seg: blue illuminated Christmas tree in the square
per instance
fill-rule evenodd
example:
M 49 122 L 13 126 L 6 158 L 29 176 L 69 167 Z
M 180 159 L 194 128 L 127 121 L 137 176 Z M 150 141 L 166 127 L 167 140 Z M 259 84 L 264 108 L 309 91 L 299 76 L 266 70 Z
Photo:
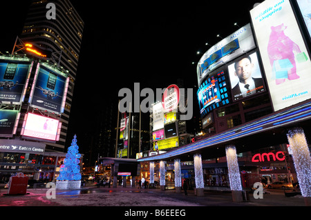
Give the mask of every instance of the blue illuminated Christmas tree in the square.
M 64 164 L 60 166 L 58 180 L 80 180 L 80 160 L 81 154 L 79 154 L 79 147 L 77 146 L 77 136 L 73 137 L 71 146 L 68 148 L 66 159 Z

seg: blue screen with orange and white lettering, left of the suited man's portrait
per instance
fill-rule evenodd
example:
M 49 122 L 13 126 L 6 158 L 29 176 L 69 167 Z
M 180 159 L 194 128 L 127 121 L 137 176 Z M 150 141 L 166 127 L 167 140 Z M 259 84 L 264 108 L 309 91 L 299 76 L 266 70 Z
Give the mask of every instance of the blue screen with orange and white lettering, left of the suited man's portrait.
M 211 110 L 229 103 L 227 81 L 223 71 L 209 77 L 199 87 L 197 92 L 201 116 Z

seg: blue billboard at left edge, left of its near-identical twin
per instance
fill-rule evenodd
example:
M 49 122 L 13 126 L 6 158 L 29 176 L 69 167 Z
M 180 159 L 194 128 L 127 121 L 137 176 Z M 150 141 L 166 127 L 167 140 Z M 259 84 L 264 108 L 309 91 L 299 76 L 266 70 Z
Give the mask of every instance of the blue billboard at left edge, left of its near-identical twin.
M 25 96 L 32 63 L 0 59 L 0 103 L 19 105 Z

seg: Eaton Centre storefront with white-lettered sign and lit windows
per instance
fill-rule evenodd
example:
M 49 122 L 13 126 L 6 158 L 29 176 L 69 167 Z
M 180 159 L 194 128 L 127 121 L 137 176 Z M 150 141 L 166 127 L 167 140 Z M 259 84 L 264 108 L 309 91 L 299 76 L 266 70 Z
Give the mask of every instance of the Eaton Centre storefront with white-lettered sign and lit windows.
M 46 152 L 45 148 L 44 143 L 0 139 L 0 180 L 23 172 L 30 180 L 54 181 L 66 152 Z

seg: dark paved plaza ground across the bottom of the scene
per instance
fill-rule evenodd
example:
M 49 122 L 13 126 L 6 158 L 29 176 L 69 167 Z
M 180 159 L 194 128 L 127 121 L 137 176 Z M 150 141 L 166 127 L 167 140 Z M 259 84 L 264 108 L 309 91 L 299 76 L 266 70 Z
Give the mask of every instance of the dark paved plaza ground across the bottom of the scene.
M 95 185 L 79 190 L 56 190 L 56 199 L 47 199 L 47 188 L 28 188 L 26 195 L 5 196 L 0 191 L 0 206 L 305 206 L 301 196 L 285 197 L 283 192 L 263 194 L 263 199 L 233 202 L 231 192 L 205 190 L 203 197 L 197 197 L 194 190 L 176 193 L 175 190 L 138 189 L 130 186 L 108 188 Z

